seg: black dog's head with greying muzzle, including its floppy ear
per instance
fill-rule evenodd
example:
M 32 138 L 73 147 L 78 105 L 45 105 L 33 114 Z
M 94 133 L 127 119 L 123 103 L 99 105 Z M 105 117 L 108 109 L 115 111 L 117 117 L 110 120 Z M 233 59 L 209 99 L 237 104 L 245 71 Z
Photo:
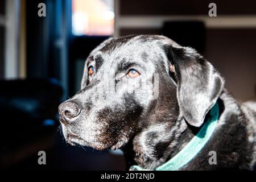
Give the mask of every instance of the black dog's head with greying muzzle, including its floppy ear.
M 64 137 L 98 150 L 117 149 L 143 127 L 181 114 L 202 125 L 223 81 L 194 49 L 158 35 L 110 38 L 85 61 L 81 90 L 59 106 Z

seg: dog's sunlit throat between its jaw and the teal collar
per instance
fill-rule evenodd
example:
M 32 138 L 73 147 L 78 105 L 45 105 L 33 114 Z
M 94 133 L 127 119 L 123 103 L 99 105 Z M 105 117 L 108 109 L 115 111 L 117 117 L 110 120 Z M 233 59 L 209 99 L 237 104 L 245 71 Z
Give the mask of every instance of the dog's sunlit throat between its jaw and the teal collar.
M 161 166 L 176 155 L 198 131 L 191 128 L 182 117 L 177 119 L 175 126 L 169 123 L 148 125 L 135 135 L 123 149 L 128 167 L 134 164 L 146 169 Z

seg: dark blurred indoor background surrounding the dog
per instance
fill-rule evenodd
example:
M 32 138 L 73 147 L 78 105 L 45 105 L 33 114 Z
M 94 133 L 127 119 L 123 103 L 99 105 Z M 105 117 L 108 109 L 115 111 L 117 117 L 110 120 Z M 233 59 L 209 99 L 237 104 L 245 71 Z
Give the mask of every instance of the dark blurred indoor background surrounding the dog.
M 57 106 L 79 91 L 86 57 L 109 36 L 159 34 L 196 48 L 238 101 L 255 100 L 256 1 L 214 1 L 217 17 L 211 2 L 0 0 L 0 168 L 125 169 L 121 151 L 69 146 L 58 128 Z

